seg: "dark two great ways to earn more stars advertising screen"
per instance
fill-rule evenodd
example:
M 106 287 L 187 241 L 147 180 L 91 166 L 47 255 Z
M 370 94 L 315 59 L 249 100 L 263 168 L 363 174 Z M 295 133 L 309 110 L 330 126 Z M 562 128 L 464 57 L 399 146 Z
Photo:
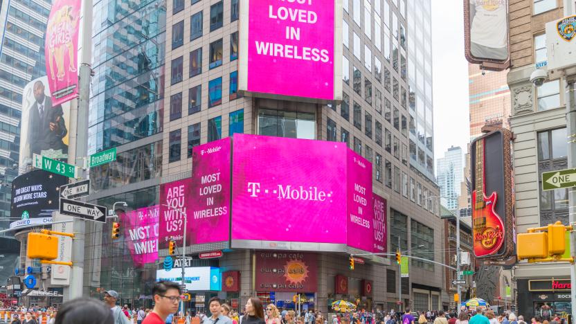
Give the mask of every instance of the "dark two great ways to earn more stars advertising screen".
M 60 208 L 59 188 L 66 183 L 68 178 L 44 170 L 35 170 L 15 178 L 12 181 L 10 215 L 21 217 L 21 221 L 18 221 L 21 224 L 15 227 L 26 225 L 30 219 L 52 217 L 52 212 Z

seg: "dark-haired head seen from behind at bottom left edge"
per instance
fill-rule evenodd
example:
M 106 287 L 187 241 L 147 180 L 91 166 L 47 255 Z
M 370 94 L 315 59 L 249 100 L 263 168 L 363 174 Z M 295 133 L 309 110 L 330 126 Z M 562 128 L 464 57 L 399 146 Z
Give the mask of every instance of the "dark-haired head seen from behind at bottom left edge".
M 100 300 L 76 298 L 62 304 L 54 324 L 114 324 L 114 313 Z

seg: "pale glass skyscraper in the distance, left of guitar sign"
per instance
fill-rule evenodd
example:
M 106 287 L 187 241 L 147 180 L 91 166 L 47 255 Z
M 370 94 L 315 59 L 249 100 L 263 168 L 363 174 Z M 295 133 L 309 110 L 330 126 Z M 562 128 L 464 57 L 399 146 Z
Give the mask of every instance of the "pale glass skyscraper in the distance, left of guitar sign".
M 458 208 L 458 198 L 462 195 L 460 183 L 462 183 L 464 169 L 462 168 L 462 149 L 450 147 L 444 152 L 444 157 L 436 161 L 438 174 L 438 186 L 440 195 L 451 199 L 442 199 L 442 204 L 449 210 Z

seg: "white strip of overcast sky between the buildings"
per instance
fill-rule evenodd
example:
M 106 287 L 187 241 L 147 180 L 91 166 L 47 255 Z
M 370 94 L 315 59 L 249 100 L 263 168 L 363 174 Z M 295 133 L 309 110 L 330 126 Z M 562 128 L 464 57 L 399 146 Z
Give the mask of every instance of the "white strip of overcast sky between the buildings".
M 442 158 L 451 145 L 462 147 L 464 154 L 469 142 L 468 62 L 464 56 L 462 2 L 431 0 L 435 159 Z

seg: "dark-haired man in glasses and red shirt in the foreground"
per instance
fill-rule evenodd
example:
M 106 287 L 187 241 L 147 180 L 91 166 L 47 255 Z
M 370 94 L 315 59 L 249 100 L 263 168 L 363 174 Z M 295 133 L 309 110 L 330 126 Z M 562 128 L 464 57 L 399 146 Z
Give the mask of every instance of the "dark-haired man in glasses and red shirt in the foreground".
M 154 309 L 144 318 L 142 324 L 164 324 L 168 316 L 178 311 L 181 300 L 180 286 L 172 281 L 159 281 L 152 287 Z

